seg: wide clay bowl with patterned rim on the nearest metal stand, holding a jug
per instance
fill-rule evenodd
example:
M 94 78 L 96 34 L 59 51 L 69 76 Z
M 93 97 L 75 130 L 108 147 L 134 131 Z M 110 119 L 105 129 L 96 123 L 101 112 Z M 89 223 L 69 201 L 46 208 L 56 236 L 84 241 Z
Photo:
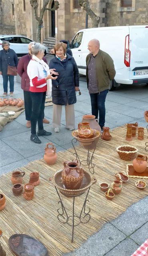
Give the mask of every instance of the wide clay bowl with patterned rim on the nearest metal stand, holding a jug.
M 84 177 L 82 180 L 81 187 L 79 189 L 66 189 L 62 181 L 62 170 L 58 170 L 52 176 L 52 183 L 62 194 L 65 196 L 79 196 L 84 193 L 92 184 L 96 183 L 96 178 L 92 176 L 87 170 L 83 169 Z

